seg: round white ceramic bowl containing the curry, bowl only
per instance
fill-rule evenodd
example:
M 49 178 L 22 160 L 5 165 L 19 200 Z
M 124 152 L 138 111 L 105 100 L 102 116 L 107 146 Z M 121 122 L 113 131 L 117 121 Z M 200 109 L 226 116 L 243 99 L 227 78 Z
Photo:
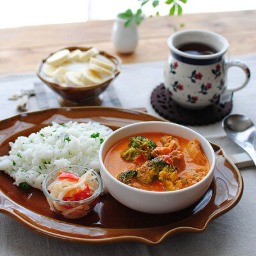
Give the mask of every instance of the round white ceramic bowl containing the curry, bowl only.
M 122 140 L 127 136 L 133 134 L 140 134 L 143 132 L 163 132 L 180 136 L 187 140 L 197 139 L 200 141 L 205 155 L 209 159 L 211 169 L 209 173 L 193 186 L 176 191 L 147 191 L 143 189 L 132 188 L 120 182 L 113 177 L 103 164 L 103 159 L 109 148 L 111 148 L 117 141 Z M 102 143 L 99 152 L 100 159 L 100 175 L 109 193 L 121 204 L 130 207 L 136 211 L 147 213 L 167 213 L 175 212 L 185 209 L 192 204 L 195 204 L 209 188 L 215 166 L 215 154 L 210 143 L 205 140 L 203 136 L 197 132 L 184 127 L 182 125 L 172 124 L 169 122 L 140 122 L 136 124 L 127 125 L 113 132 Z M 118 168 L 118 166 L 116 166 Z

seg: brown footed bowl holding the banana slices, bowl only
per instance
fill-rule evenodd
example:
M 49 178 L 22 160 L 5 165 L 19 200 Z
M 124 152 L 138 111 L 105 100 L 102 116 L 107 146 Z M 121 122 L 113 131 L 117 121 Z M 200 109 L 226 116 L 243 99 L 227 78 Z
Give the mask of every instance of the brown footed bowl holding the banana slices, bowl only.
M 87 51 L 92 47 L 66 47 L 63 49 L 68 49 L 69 51 L 74 51 L 79 49 L 81 51 Z M 61 49 L 61 50 L 63 50 Z M 61 51 L 59 50 L 59 51 Z M 49 54 L 51 56 L 55 52 Z M 120 69 L 122 65 L 122 60 L 113 54 L 109 54 L 108 52 L 100 51 L 100 54 L 111 60 L 115 63 L 115 70 L 113 72 L 113 77 L 109 78 L 108 80 L 104 81 L 104 83 L 95 84 L 92 86 L 84 86 L 84 87 L 64 87 L 58 83 L 53 83 L 48 81 L 42 76 L 42 66 L 49 58 L 47 56 L 40 62 L 38 69 L 36 70 L 36 75 L 45 83 L 51 90 L 58 94 L 58 101 L 60 102 L 61 106 L 93 106 L 93 105 L 100 105 L 102 103 L 102 99 L 99 98 L 99 95 L 108 88 L 109 84 L 120 74 Z

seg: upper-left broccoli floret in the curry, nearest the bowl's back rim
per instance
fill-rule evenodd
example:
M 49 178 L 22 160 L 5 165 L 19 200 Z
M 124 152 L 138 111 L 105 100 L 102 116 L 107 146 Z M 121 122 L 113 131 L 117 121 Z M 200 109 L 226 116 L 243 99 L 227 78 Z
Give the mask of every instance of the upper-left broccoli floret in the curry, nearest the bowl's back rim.
M 129 138 L 129 141 L 129 148 L 122 153 L 124 160 L 133 162 L 140 154 L 143 154 L 147 159 L 152 159 L 151 152 L 156 148 L 154 141 L 139 135 Z

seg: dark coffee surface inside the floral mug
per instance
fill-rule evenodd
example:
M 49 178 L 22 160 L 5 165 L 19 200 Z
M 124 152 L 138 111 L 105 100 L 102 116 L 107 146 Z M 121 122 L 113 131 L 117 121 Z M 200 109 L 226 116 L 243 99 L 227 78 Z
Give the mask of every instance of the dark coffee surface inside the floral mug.
M 201 43 L 186 43 L 179 45 L 177 49 L 193 55 L 209 55 L 217 52 L 216 49 L 211 46 Z

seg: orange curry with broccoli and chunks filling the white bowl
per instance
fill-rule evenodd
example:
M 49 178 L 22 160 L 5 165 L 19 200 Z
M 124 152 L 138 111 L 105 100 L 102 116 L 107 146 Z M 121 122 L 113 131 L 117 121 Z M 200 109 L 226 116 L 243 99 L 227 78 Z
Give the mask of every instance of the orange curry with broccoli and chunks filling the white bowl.
M 118 141 L 104 158 L 111 175 L 150 191 L 172 191 L 202 180 L 210 164 L 198 140 L 148 132 Z

